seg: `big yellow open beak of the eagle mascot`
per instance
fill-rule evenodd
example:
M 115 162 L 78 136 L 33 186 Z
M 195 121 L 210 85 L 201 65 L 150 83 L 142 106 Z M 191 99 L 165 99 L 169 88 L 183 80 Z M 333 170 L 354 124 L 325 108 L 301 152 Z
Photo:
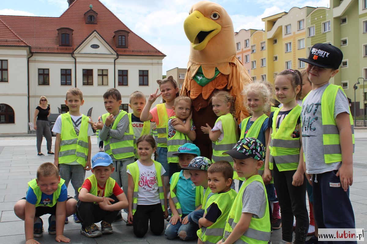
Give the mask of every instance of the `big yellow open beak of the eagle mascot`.
M 183 22 L 183 29 L 192 48 L 200 51 L 221 31 L 222 26 L 195 10 Z

